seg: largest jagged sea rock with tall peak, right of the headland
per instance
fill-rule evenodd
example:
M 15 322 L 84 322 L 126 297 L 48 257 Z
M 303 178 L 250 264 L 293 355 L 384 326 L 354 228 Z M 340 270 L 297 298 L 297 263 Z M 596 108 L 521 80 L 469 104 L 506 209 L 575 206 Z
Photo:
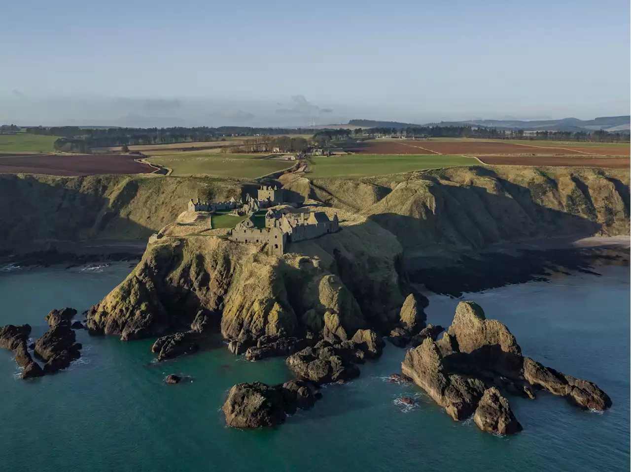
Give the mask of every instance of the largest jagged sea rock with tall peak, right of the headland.
M 517 432 L 521 425 L 497 388 L 534 398 L 531 388 L 539 387 L 583 408 L 602 411 L 611 406 L 610 398 L 595 384 L 522 357 L 521 347 L 506 326 L 486 319 L 473 302 L 458 304 L 449 330 L 438 342 L 426 337 L 410 349 L 401 372 L 454 420 L 476 413 L 480 429 L 500 434 Z

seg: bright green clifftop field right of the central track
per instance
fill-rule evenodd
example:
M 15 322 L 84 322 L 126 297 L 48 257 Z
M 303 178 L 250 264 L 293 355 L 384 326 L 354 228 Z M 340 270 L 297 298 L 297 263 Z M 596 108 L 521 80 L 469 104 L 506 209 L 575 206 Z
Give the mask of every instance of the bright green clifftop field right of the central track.
M 464 156 L 416 156 L 412 154 L 348 154 L 346 156 L 321 156 L 312 158 L 310 161 L 312 163 L 310 178 L 370 177 L 441 167 L 480 165 L 476 159 Z

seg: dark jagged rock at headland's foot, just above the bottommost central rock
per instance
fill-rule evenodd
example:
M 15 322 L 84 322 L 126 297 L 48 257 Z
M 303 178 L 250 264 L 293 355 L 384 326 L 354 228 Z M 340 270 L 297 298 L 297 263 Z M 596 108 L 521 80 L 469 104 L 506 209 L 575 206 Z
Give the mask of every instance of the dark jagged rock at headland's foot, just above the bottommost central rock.
M 306 347 L 290 355 L 286 364 L 298 379 L 315 384 L 348 381 L 359 376 L 358 367 L 339 354 L 333 347 Z

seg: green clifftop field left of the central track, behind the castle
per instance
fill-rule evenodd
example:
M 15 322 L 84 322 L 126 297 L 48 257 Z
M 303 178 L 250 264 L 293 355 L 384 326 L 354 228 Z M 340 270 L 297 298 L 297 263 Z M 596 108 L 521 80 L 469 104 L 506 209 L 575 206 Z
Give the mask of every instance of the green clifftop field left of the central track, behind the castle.
M 256 154 L 213 154 L 203 151 L 155 156 L 151 162 L 173 170 L 172 175 L 215 175 L 257 178 L 291 167 L 290 161 L 261 159 Z

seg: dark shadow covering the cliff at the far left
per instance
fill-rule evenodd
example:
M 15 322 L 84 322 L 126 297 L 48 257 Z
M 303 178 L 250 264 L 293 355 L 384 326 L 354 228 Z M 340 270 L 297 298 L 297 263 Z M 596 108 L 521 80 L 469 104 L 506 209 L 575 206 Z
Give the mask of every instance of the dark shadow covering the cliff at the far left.
M 23 260 L 31 254 L 34 262 L 56 263 L 82 254 L 87 259 L 101 254 L 143 253 L 142 245 L 109 247 L 102 238 L 144 243 L 153 230 L 121 217 L 121 205 L 131 201 L 137 188 L 129 182 L 110 205 L 104 196 L 109 181 L 83 188 L 83 177 L 50 178 L 0 175 L 0 257 Z M 108 236 L 116 236 L 108 238 Z M 120 237 L 118 237 L 120 235 Z M 98 241 L 86 249 L 80 243 Z M 59 251 L 57 250 L 59 249 Z M 62 252 L 68 251 L 67 255 Z M 28 259 L 28 258 L 27 258 Z

